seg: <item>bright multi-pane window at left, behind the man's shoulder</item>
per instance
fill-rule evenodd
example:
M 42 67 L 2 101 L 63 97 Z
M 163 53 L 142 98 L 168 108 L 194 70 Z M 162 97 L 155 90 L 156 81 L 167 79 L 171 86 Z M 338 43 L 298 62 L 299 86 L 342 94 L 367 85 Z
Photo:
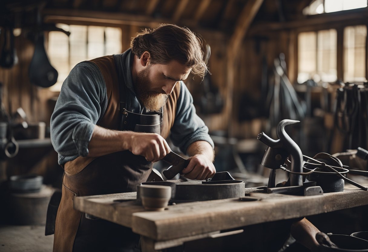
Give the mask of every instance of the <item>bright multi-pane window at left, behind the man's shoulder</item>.
M 69 31 L 70 36 L 62 32 L 49 32 L 47 51 L 50 63 L 59 73 L 57 83 L 50 87 L 52 91 L 60 91 L 70 70 L 77 63 L 121 53 L 120 28 L 66 24 L 57 26 Z

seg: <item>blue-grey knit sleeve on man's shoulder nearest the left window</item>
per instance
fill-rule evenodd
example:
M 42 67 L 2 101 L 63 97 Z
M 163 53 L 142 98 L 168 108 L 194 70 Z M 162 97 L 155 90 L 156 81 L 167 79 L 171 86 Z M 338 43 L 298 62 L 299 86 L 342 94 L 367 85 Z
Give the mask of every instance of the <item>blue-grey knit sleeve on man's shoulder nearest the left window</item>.
M 60 156 L 88 155 L 93 129 L 106 107 L 106 85 L 98 67 L 91 62 L 77 64 L 64 81 L 51 116 L 51 141 L 59 163 Z

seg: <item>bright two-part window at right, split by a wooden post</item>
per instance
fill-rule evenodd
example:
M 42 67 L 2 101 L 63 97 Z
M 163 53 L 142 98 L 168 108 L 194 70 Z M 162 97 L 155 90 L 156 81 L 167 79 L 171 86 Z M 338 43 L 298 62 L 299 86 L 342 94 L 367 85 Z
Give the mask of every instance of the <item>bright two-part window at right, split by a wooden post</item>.
M 343 31 L 344 82 L 366 79 L 367 26 L 348 26 Z M 335 29 L 301 32 L 298 35 L 298 83 L 308 79 L 333 82 L 337 79 L 337 32 Z

